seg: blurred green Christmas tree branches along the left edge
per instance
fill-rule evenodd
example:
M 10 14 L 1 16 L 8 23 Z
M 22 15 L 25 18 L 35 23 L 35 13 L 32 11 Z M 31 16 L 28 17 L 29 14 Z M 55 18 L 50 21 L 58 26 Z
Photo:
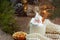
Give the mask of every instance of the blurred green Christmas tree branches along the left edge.
M 0 27 L 10 34 L 16 30 L 14 9 L 9 0 L 0 0 Z

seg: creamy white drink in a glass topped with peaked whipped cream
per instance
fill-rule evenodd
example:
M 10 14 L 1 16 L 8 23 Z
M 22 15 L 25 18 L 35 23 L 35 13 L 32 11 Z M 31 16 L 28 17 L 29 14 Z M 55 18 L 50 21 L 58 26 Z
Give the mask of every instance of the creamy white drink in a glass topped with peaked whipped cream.
M 42 17 L 36 12 L 35 18 L 30 21 L 30 33 L 40 33 L 45 35 L 46 25 L 42 23 Z

